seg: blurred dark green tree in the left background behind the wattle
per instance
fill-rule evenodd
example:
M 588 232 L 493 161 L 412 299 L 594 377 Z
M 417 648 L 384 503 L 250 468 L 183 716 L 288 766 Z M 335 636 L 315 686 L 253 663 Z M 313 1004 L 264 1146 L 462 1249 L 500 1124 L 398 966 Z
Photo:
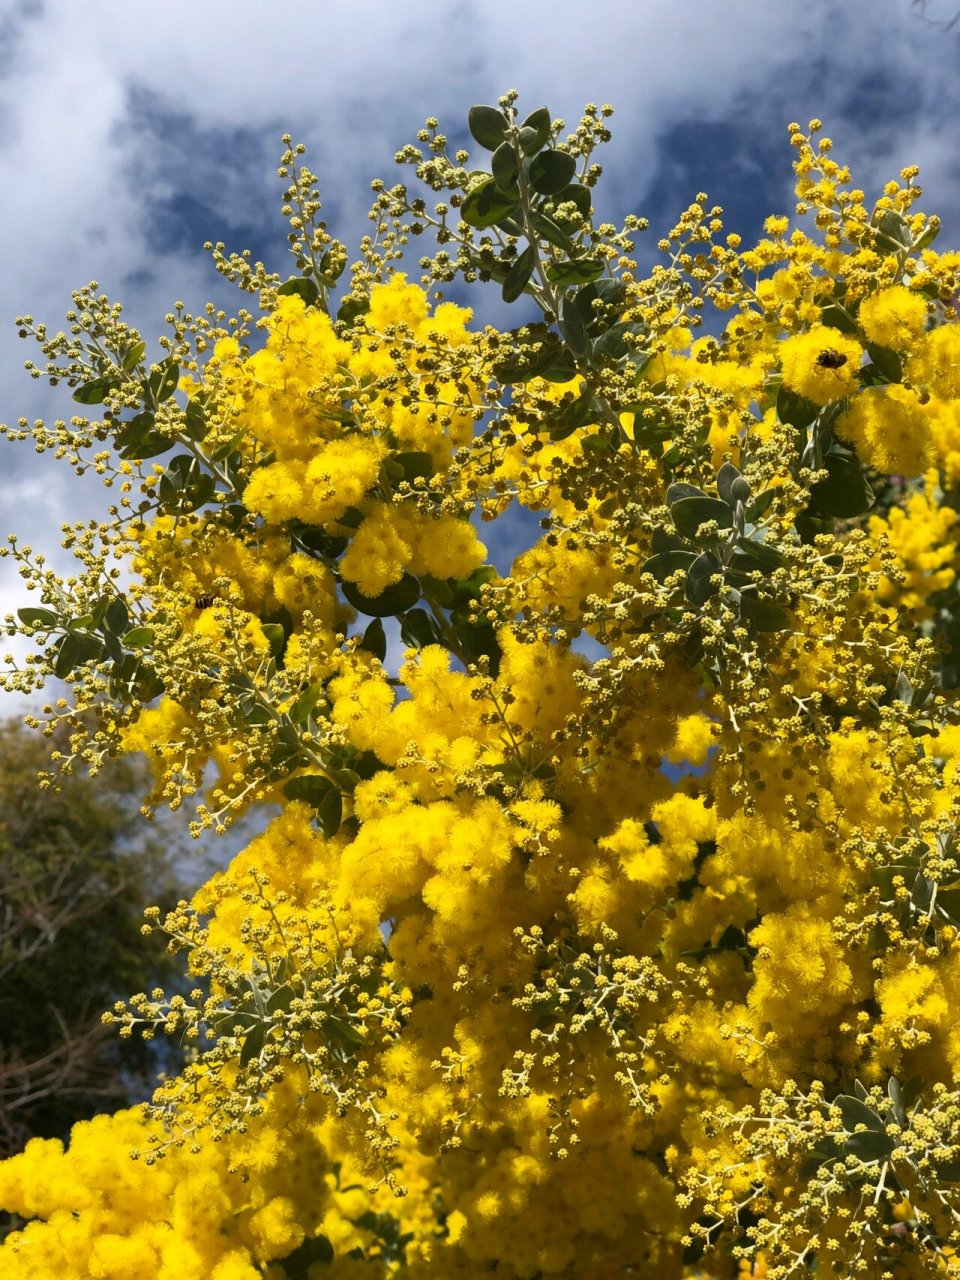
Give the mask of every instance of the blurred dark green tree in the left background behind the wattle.
M 175 895 L 172 842 L 137 832 L 145 765 L 37 790 L 50 741 L 0 722 L 0 1153 L 146 1097 L 175 1046 L 122 1041 L 101 1014 L 170 978 L 143 908 Z M 160 1055 L 160 1056 L 159 1056 Z M 165 1055 L 165 1057 L 163 1056 Z

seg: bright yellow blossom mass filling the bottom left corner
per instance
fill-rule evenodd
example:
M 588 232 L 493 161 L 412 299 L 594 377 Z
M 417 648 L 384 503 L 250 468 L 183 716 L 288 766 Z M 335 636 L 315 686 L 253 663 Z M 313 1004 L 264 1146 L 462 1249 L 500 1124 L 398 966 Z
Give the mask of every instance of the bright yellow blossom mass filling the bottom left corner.
M 315 1229 L 335 1204 L 319 1117 L 292 1091 L 276 1091 L 242 1140 L 202 1160 L 187 1148 L 155 1164 L 125 1155 L 147 1152 L 156 1137 L 156 1125 L 123 1111 L 78 1124 L 67 1152 L 37 1138 L 8 1161 L 4 1204 L 45 1225 L 36 1221 L 6 1244 L 4 1275 L 257 1280 L 306 1239 L 297 1211 L 305 1192 Z M 241 1180 L 232 1170 L 238 1161 L 253 1176 Z

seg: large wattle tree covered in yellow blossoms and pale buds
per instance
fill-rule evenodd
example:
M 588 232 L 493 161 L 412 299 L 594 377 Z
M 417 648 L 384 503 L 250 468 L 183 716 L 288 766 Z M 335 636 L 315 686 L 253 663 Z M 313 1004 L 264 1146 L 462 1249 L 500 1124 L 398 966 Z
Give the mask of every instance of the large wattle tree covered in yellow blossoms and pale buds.
M 69 579 L 10 541 L 8 685 L 265 817 L 108 1015 L 184 1070 L 0 1165 L 4 1276 L 960 1270 L 960 253 L 812 122 L 796 219 L 648 273 L 609 115 L 429 120 L 352 264 L 285 138 L 252 310 L 20 319 L 102 408 L 6 434 L 113 506 Z

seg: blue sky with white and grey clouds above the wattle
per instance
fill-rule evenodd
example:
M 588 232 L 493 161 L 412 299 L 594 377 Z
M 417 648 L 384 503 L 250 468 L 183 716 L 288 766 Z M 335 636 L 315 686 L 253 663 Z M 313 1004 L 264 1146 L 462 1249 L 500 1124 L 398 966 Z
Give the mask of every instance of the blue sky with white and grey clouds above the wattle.
M 755 234 L 787 212 L 790 120 L 818 115 L 868 192 L 923 166 L 923 207 L 960 242 L 960 0 L 0 0 L 0 421 L 69 416 L 32 383 L 13 317 L 61 324 L 97 279 L 145 337 L 170 303 L 236 306 L 202 251 L 253 250 L 287 271 L 275 168 L 289 131 L 321 175 L 333 232 L 356 246 L 370 179 L 426 115 L 466 141 L 471 102 L 509 87 L 572 125 L 613 102 L 596 196 L 650 218 L 694 195 Z M 490 312 L 481 308 L 484 316 Z M 105 493 L 29 444 L 0 442 L 0 524 L 54 563 L 59 526 Z M 0 616 L 24 603 L 0 562 Z

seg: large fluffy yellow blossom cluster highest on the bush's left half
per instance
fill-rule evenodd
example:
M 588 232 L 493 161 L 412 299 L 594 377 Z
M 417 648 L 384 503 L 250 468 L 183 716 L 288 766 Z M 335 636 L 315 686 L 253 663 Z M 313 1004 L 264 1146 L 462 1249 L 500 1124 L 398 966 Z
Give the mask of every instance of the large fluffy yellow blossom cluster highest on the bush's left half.
M 266 344 L 255 355 L 244 358 L 234 339 L 214 349 L 233 417 L 265 453 L 243 490 L 246 507 L 270 525 L 297 520 L 333 532 L 356 512 L 362 524 L 340 570 L 365 595 L 380 595 L 406 570 L 466 577 L 484 561 L 470 524 L 394 506 L 385 466 L 393 452 L 422 453 L 429 471 L 442 472 L 471 438 L 470 402 L 449 379 L 426 372 L 433 351 L 467 342 L 467 319 L 452 303 L 430 315 L 424 292 L 396 275 L 374 293 L 356 344 L 339 338 L 323 311 L 287 296 L 266 319 Z M 381 389 L 396 380 L 394 343 L 408 352 L 413 378 L 401 396 Z

